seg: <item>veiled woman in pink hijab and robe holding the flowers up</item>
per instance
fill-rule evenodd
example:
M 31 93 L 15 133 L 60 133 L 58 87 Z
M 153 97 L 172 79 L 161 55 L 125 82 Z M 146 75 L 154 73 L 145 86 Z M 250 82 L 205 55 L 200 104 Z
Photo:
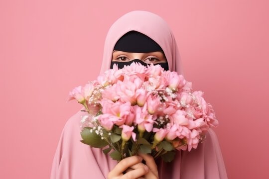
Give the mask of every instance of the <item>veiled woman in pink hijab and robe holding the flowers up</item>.
M 138 36 L 141 39 L 135 41 Z M 144 65 L 160 64 L 165 70 L 183 75 L 170 28 L 151 12 L 129 12 L 111 26 L 100 74 L 115 63 L 121 68 L 133 60 Z M 154 162 L 149 155 L 140 155 L 117 164 L 102 150 L 80 142 L 80 119 L 84 114 L 78 111 L 66 122 L 54 156 L 51 179 L 227 179 L 218 140 L 212 130 L 207 132 L 206 141 L 197 149 L 177 151 L 171 163 Z

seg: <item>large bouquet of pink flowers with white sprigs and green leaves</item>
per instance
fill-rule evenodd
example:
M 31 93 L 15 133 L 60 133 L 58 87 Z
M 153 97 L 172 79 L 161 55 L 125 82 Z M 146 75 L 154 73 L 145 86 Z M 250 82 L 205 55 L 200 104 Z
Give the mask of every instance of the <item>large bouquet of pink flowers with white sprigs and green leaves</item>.
M 116 64 L 97 80 L 69 92 L 85 107 L 82 143 L 102 148 L 114 160 L 138 152 L 171 162 L 175 150 L 196 149 L 218 120 L 202 91 L 177 72 L 152 63 Z

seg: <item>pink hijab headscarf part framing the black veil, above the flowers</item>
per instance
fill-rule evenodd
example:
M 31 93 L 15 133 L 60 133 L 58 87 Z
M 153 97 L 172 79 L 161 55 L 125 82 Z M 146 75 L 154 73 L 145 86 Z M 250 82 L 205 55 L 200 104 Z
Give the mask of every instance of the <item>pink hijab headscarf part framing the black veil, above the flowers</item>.
M 142 10 L 135 10 L 125 14 L 110 27 L 105 41 L 100 74 L 110 68 L 113 48 L 117 41 L 132 30 L 143 33 L 157 42 L 165 54 L 169 70 L 183 75 L 177 44 L 168 24 L 160 16 Z

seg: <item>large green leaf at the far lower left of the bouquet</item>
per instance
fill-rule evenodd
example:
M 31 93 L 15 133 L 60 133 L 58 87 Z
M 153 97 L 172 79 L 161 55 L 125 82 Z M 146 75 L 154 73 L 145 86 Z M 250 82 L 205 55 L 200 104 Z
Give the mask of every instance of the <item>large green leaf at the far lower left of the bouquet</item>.
M 96 132 L 90 127 L 85 127 L 80 132 L 80 135 L 83 139 L 80 142 L 90 145 L 91 147 L 103 148 L 108 145 L 108 143 L 105 140 L 102 140 L 101 136 L 97 135 Z

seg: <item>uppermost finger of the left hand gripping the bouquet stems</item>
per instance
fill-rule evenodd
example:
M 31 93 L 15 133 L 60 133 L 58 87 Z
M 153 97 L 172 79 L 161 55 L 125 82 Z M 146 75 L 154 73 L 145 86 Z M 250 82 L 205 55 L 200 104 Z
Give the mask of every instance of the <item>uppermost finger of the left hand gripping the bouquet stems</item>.
M 140 156 L 132 156 L 123 159 L 119 164 L 116 165 L 116 167 L 109 173 L 110 177 L 117 177 L 119 175 L 122 175 L 123 172 L 128 169 L 129 167 L 138 164 L 143 159 Z

